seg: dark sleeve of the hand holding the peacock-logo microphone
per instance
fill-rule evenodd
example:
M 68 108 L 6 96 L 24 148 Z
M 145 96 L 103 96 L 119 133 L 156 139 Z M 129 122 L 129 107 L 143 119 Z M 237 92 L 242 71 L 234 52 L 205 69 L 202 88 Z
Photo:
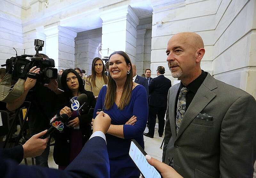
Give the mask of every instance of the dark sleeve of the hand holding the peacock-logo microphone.
M 3 149 L 3 154 L 5 158 L 9 158 L 17 161 L 18 163 L 21 163 L 24 156 L 24 150 L 22 145 L 17 145 L 13 148 Z

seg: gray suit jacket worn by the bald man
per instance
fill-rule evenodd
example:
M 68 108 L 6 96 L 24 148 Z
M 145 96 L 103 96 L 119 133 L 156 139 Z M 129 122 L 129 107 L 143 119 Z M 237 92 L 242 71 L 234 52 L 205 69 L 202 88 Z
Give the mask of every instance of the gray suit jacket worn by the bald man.
M 178 135 L 175 105 L 180 84 L 168 93 L 163 161 L 183 177 L 252 177 L 256 157 L 256 102 L 209 73 L 189 105 Z M 199 113 L 212 121 L 197 119 Z

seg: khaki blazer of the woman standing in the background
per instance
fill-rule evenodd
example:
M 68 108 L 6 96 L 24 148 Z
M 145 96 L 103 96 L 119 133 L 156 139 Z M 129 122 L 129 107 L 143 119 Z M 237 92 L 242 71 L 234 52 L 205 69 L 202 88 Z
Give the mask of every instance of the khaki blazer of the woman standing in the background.
M 107 77 L 108 78 L 108 77 Z M 85 80 L 85 86 L 84 89 L 87 91 L 90 91 L 93 93 L 94 96 L 98 96 L 100 93 L 100 89 L 102 88 L 103 85 L 107 85 L 107 83 L 104 82 L 103 77 L 101 77 L 101 79 L 99 79 L 98 77 L 96 77 L 95 79 L 95 83 L 96 86 L 92 86 L 92 80 L 91 77 L 87 77 Z

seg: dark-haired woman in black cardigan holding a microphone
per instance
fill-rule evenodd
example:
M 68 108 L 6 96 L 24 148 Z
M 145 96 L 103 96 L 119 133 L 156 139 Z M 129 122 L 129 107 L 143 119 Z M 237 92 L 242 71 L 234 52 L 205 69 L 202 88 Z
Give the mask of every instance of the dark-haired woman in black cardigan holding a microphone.
M 61 85 L 64 93 L 58 95 L 59 103 L 64 103 L 62 106 L 65 107 L 60 110 L 60 115 L 67 114 L 70 118 L 68 128 L 65 128 L 62 133 L 56 132 L 53 159 L 59 165 L 59 169 L 65 169 L 92 135 L 90 123 L 96 100 L 92 92 L 84 90 L 82 78 L 73 69 L 64 70 Z M 87 95 L 86 103 L 78 111 L 72 112 L 69 108 L 70 99 L 76 99 L 82 93 Z

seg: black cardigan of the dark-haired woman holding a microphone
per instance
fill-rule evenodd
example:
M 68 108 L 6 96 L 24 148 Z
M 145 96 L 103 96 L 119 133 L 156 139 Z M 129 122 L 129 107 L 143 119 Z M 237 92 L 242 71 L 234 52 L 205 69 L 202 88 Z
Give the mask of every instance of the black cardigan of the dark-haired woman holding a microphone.
M 84 93 L 87 95 L 87 102 L 80 109 L 81 115 L 77 116 L 79 119 L 79 129 L 83 134 L 83 145 L 89 140 L 92 135 L 91 122 L 93 109 L 96 105 L 96 100 L 92 92 L 83 90 L 81 94 Z M 58 95 L 59 98 L 59 108 L 62 109 L 65 106 L 71 108 L 69 100 L 72 98 L 66 93 Z M 64 104 L 63 104 L 64 103 Z M 60 107 L 61 106 L 61 107 Z M 90 110 L 91 108 L 91 110 Z M 60 113 L 60 109 L 58 113 Z M 72 128 L 65 128 L 62 133 L 55 132 L 55 145 L 53 150 L 53 159 L 55 163 L 59 166 L 67 166 L 69 164 L 69 155 L 70 155 L 70 131 Z

